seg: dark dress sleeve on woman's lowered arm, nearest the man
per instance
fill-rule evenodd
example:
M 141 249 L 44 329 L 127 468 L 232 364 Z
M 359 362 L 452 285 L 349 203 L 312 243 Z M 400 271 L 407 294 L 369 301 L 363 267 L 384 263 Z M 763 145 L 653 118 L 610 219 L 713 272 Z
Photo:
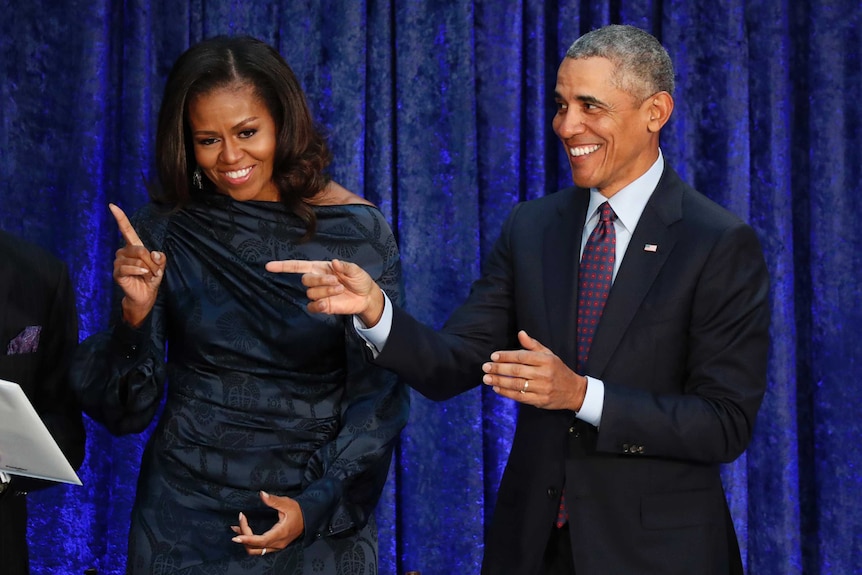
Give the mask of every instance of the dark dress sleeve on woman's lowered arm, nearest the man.
M 395 302 L 403 300 L 401 264 L 394 237 L 378 240 L 384 256 L 375 278 Z M 372 242 L 374 243 L 374 242 Z M 376 274 L 375 274 L 376 275 Z M 305 521 L 304 543 L 362 528 L 386 483 L 392 450 L 407 424 L 408 388 L 395 374 L 365 359 L 365 343 L 344 318 L 347 377 L 341 430 L 308 463 L 308 486 L 296 498 Z

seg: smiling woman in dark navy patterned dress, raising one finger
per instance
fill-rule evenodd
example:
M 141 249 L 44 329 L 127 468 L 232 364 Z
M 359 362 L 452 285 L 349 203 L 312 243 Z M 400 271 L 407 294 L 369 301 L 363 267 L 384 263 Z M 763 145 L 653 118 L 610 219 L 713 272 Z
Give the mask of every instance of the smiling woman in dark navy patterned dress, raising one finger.
M 344 320 L 309 314 L 298 277 L 264 265 L 349 258 L 400 300 L 389 226 L 324 175 L 299 83 L 257 40 L 180 56 L 156 148 L 153 201 L 131 222 L 111 206 L 117 317 L 73 367 L 112 433 L 143 431 L 166 394 L 127 573 L 376 573 L 373 512 L 409 396 Z

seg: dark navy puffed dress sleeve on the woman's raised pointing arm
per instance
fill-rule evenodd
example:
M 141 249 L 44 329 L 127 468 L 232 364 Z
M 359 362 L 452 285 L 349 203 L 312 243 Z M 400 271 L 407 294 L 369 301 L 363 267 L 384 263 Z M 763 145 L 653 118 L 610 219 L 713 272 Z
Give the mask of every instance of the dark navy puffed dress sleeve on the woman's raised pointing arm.
M 132 225 L 150 250 L 163 249 L 163 222 L 149 208 Z M 152 421 L 165 384 L 164 307 L 166 286 L 143 324 L 122 320 L 123 293 L 115 288 L 112 327 L 78 346 L 71 368 L 72 387 L 84 412 L 115 435 L 139 433 Z

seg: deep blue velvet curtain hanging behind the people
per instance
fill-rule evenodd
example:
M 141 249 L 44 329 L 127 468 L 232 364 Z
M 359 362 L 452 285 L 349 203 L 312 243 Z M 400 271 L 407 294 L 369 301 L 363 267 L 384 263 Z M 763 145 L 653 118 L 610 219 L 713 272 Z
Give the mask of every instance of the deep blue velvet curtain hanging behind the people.
M 665 156 L 750 221 L 772 275 L 769 389 L 724 480 L 749 573 L 862 573 L 862 8 L 858 0 L 0 0 L 0 227 L 73 271 L 104 329 L 118 237 L 146 201 L 165 76 L 190 43 L 276 46 L 330 134 L 332 174 L 400 242 L 439 325 L 516 202 L 570 181 L 552 91 L 582 32 L 629 23 L 678 71 Z M 516 411 L 414 394 L 378 514 L 381 573 L 477 573 Z M 87 422 L 84 487 L 34 493 L 33 573 L 122 573 L 146 439 Z

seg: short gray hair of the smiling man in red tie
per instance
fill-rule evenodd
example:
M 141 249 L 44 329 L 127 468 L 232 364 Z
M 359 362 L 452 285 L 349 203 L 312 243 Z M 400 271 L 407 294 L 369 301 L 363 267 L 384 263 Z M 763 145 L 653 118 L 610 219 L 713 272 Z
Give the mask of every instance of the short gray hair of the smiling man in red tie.
M 614 65 L 614 84 L 643 102 L 656 92 L 673 95 L 673 62 L 648 32 L 612 24 L 587 32 L 566 51 L 567 58 L 607 58 Z

